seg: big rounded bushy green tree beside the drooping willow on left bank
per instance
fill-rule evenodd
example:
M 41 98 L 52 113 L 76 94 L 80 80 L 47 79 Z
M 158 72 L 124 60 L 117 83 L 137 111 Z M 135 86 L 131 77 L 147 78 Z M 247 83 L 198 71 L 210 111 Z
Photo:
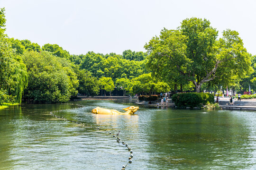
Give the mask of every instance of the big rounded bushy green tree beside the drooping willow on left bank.
M 47 51 L 27 51 L 22 58 L 29 77 L 25 99 L 34 102 L 67 102 L 70 96 L 76 96 L 78 80 L 69 61 Z

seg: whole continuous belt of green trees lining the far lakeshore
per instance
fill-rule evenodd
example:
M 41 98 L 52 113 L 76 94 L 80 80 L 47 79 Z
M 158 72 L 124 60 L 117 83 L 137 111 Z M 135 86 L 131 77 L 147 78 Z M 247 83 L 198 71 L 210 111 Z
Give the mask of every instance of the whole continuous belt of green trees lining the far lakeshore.
M 238 32 L 228 29 L 218 38 L 206 19 L 187 18 L 176 30 L 164 28 L 146 43 L 147 52 L 80 55 L 57 44 L 41 47 L 9 38 L 5 22 L 1 8 L 0 105 L 67 102 L 78 94 L 216 93 L 227 86 L 242 93 L 249 85 L 256 89 L 256 56 L 246 51 Z

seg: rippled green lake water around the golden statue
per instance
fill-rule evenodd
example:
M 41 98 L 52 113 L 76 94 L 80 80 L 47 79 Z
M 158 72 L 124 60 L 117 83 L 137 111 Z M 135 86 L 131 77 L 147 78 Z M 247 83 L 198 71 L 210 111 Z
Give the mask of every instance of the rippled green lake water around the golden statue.
M 136 115 L 98 115 L 133 103 L 22 104 L 0 110 L 0 170 L 255 170 L 256 112 L 140 106 Z M 84 123 L 76 124 L 50 115 Z M 99 130 L 97 129 L 99 127 Z M 108 132 L 106 132 L 106 131 Z M 118 143 L 112 135 L 118 133 Z M 112 134 L 110 135 L 109 132 Z

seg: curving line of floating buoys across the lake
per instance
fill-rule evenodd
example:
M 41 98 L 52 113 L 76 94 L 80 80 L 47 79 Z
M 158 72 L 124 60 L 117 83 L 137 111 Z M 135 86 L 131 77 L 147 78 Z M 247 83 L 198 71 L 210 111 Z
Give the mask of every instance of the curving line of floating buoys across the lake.
M 61 103 L 59 103 L 59 104 L 61 104 Z M 81 104 L 73 104 L 73 103 L 62 103 L 62 104 L 66 104 L 66 105 L 77 105 L 77 106 L 80 106 L 80 107 L 84 107 L 84 106 L 81 105 Z M 66 109 L 66 110 L 70 110 L 70 109 Z M 80 125 L 82 125 L 82 127 L 85 126 L 84 123 L 82 123 L 82 122 L 78 122 L 78 121 L 66 119 L 66 118 L 64 118 L 64 117 L 60 117 L 60 116 L 56 115 L 56 113 L 61 112 L 61 111 L 64 111 L 64 110 L 50 111 L 50 115 L 52 115 L 53 117 L 58 118 L 58 119 L 63 119 L 64 121 L 70 121 L 70 122 L 72 122 L 72 123 L 80 124 Z M 90 127 L 93 128 L 92 126 L 90 126 Z M 101 130 L 100 127 L 96 127 L 96 129 L 97 129 L 97 130 Z M 109 135 L 112 134 L 112 133 L 109 132 L 108 130 L 104 130 L 104 131 L 102 130 L 102 132 L 106 132 L 106 134 L 109 134 Z M 120 132 L 120 131 L 119 131 L 119 132 Z M 119 133 L 118 133 L 116 136 L 113 135 L 113 137 L 116 138 L 116 140 L 117 140 L 118 143 L 120 142 L 121 139 L 120 139 L 120 137 L 119 137 Z M 133 152 L 132 152 L 132 150 L 131 150 L 131 147 L 129 147 L 127 143 L 125 143 L 124 141 L 122 141 L 122 144 L 125 145 L 125 147 L 127 147 L 127 150 L 128 150 L 129 153 L 130 153 L 130 156 L 129 156 L 129 158 L 128 158 L 127 164 L 126 164 L 126 165 L 123 165 L 123 166 L 122 166 L 122 169 L 121 169 L 121 170 L 125 170 L 126 167 L 127 167 L 127 165 L 128 165 L 129 163 L 132 163 L 132 158 L 133 158 L 133 154 L 132 154 L 132 153 L 133 153 Z

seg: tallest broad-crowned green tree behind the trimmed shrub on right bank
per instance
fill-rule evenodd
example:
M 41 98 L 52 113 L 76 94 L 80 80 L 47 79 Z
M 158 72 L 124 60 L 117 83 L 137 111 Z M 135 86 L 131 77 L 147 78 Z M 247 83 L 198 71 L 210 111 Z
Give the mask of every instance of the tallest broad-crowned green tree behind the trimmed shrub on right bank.
M 217 37 L 218 31 L 208 20 L 185 19 L 177 30 L 164 28 L 145 45 L 147 67 L 168 81 L 192 82 L 196 92 L 215 78 L 227 83 L 230 76 L 250 72 L 250 55 L 238 32 L 227 30 Z

